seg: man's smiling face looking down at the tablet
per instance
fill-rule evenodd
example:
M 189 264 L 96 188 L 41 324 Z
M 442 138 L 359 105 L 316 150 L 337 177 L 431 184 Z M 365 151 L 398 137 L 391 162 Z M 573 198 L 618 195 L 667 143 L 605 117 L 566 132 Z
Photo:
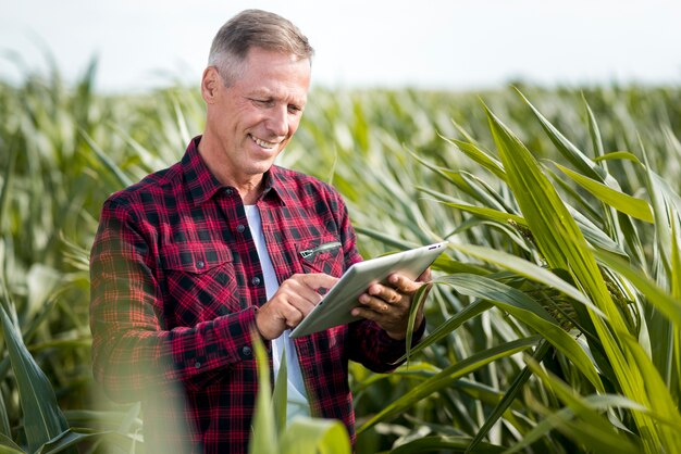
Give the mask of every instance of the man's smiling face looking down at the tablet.
M 199 152 L 209 169 L 242 197 L 259 189 L 298 128 L 310 86 L 310 61 L 251 48 L 242 71 L 225 86 L 214 66 L 203 72 L 208 105 Z

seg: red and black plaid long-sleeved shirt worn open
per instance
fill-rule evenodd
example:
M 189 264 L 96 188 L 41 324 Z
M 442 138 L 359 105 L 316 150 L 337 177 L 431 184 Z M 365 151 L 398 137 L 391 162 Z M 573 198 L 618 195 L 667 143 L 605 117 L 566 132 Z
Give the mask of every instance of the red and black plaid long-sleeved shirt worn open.
M 208 171 L 199 140 L 107 200 L 91 252 L 95 377 L 114 400 L 143 402 L 148 452 L 246 452 L 251 436 L 264 278 L 242 199 Z M 331 186 L 273 166 L 257 203 L 280 282 L 361 260 Z M 342 247 L 300 255 L 327 242 Z M 361 320 L 295 344 L 313 416 L 340 419 L 354 440 L 348 360 L 388 371 L 404 341 Z

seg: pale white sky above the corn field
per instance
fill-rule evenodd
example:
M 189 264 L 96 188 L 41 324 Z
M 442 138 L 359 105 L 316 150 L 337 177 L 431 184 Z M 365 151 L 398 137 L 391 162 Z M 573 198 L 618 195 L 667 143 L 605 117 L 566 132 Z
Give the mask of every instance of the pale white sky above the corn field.
M 331 88 L 681 85 L 679 0 L 0 0 L 0 79 L 46 72 L 47 54 L 70 81 L 96 58 L 100 90 L 198 86 L 247 8 L 298 25 Z

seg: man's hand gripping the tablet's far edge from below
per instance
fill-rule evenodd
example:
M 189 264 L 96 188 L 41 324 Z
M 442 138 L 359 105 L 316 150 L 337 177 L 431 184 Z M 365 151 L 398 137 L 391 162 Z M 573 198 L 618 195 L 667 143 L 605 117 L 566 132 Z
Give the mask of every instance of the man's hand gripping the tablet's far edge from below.
M 401 340 L 407 337 L 413 294 L 431 281 L 431 269 L 426 269 L 417 280 L 393 274 L 387 281 L 387 285 L 374 283 L 369 287 L 359 297 L 361 306 L 354 308 L 352 315 L 374 320 L 391 338 Z M 423 307 L 419 307 L 414 328 L 419 328 L 422 323 Z

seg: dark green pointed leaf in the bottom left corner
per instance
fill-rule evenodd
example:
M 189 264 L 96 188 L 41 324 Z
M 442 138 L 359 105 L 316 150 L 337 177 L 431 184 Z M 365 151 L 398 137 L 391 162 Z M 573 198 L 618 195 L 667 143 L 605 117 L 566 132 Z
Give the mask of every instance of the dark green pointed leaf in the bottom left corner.
M 28 450 L 35 452 L 44 443 L 67 430 L 69 425 L 57 403 L 54 390 L 26 350 L 21 335 L 2 307 L 0 318 L 24 413 Z

